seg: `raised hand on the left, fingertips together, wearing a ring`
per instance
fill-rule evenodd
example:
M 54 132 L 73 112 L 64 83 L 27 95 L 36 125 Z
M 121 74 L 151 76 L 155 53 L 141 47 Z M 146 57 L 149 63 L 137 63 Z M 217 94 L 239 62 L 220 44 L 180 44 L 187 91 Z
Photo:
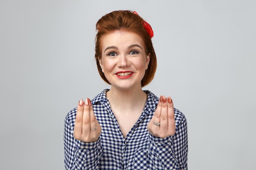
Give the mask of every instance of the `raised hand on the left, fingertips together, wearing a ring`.
M 101 135 L 101 126 L 97 121 L 90 99 L 79 101 L 74 126 L 74 138 L 83 142 L 94 142 Z

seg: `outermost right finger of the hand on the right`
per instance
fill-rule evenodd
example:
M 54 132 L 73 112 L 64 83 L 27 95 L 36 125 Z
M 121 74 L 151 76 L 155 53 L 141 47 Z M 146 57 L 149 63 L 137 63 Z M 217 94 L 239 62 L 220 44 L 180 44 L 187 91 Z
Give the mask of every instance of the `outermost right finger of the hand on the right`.
M 168 104 L 168 131 L 171 133 L 175 133 L 175 116 L 173 110 L 173 100 L 171 97 L 167 98 Z

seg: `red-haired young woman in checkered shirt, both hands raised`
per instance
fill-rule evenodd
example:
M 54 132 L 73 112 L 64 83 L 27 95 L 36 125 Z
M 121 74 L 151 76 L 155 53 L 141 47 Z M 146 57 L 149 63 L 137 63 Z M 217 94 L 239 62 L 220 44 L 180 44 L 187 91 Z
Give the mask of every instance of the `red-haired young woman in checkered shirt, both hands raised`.
M 98 71 L 111 88 L 66 116 L 65 169 L 186 170 L 186 118 L 171 97 L 142 90 L 157 67 L 151 26 L 136 12 L 113 11 L 96 29 Z

